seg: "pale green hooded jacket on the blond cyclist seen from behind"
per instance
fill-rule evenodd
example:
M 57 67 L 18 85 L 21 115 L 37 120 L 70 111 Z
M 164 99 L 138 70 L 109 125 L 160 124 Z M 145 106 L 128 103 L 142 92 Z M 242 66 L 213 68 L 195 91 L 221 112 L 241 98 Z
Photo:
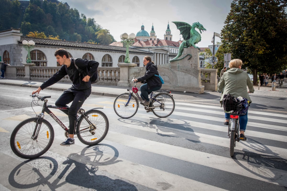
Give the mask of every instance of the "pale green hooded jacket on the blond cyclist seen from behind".
M 217 86 L 217 91 L 222 92 L 220 102 L 222 102 L 224 94 L 231 94 L 233 97 L 244 97 L 249 100 L 251 99 L 247 92 L 247 86 L 249 92 L 253 93 L 253 83 L 251 82 L 247 72 L 239 68 L 231 68 L 223 73 L 220 78 L 220 82 Z

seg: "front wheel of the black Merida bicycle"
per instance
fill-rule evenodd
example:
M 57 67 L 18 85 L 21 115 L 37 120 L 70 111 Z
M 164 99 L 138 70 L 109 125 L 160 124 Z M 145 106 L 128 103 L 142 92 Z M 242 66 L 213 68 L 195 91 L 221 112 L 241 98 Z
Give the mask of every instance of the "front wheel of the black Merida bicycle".
M 52 125 L 45 119 L 43 119 L 42 124 L 39 125 L 37 120 L 37 117 L 26 119 L 19 123 L 13 130 L 10 138 L 10 146 L 18 157 L 24 159 L 37 158 L 51 147 L 54 140 L 54 129 Z M 37 131 L 39 131 L 39 133 L 35 139 L 33 135 L 34 132 Z

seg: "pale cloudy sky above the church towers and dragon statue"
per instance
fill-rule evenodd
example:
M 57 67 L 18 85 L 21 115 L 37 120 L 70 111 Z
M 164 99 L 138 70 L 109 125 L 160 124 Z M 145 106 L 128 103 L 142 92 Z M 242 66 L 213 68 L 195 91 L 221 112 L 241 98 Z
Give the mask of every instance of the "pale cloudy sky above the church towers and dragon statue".
M 172 40 L 182 36 L 172 21 L 201 23 L 206 31 L 201 34 L 199 47 L 212 45 L 213 32 L 220 33 L 232 0 L 65 0 L 70 8 L 76 8 L 87 18 L 94 18 L 104 29 L 108 29 L 116 41 L 123 33 L 137 33 L 144 24 L 150 33 L 152 23 L 159 39 L 164 34 L 169 21 Z M 220 39 L 216 37 L 216 42 Z

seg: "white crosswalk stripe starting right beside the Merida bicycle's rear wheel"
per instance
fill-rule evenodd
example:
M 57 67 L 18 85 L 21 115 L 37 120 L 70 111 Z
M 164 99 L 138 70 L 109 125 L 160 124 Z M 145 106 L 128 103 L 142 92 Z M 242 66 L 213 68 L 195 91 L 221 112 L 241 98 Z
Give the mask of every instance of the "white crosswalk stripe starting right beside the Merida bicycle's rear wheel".
M 107 140 L 120 143 L 122 145 L 126 145 L 129 147 L 133 147 L 136 149 L 141 149 L 144 151 L 149 151 L 152 153 L 157 153 L 160 155 L 173 157 L 179 160 L 184 160 L 188 162 L 192 162 L 195 164 L 200 164 L 203 166 L 208 166 L 210 168 L 216 168 L 219 170 L 223 170 L 226 172 L 231 172 L 236 174 L 240 174 L 242 176 L 247 176 L 249 178 L 254 178 L 257 180 L 269 182 L 272 184 L 279 184 L 282 186 L 287 186 L 287 182 L 282 178 L 282 180 L 278 180 L 277 182 L 273 182 L 274 177 L 286 177 L 287 172 L 280 169 L 269 168 L 260 165 L 253 165 L 253 168 L 257 168 L 258 171 L 263 174 L 268 174 L 267 177 L 263 178 L 260 176 L 256 176 L 255 174 L 249 172 L 236 165 L 236 162 L 232 158 L 222 157 L 210 153 L 204 153 L 201 151 L 195 151 L 183 147 L 178 147 L 174 145 L 168 145 L 165 143 L 159 143 L 156 141 L 150 141 L 138 137 L 133 137 L 130 135 L 125 135 L 121 133 L 115 133 L 110 131 L 110 136 L 107 137 Z M 166 152 L 171 151 L 171 152 Z M 249 163 L 245 161 L 240 161 L 241 165 L 248 167 Z M 272 170 L 270 170 L 272 169 Z M 270 173 L 272 172 L 272 174 Z

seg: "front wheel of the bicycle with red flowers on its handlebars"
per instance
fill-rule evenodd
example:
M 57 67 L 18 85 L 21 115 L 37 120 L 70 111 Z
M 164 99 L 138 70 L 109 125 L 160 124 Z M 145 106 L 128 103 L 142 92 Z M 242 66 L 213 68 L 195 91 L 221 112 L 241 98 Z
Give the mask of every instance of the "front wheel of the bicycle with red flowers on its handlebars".
M 114 102 L 116 114 L 124 119 L 133 117 L 137 113 L 139 102 L 133 94 L 124 93 L 119 95 Z

